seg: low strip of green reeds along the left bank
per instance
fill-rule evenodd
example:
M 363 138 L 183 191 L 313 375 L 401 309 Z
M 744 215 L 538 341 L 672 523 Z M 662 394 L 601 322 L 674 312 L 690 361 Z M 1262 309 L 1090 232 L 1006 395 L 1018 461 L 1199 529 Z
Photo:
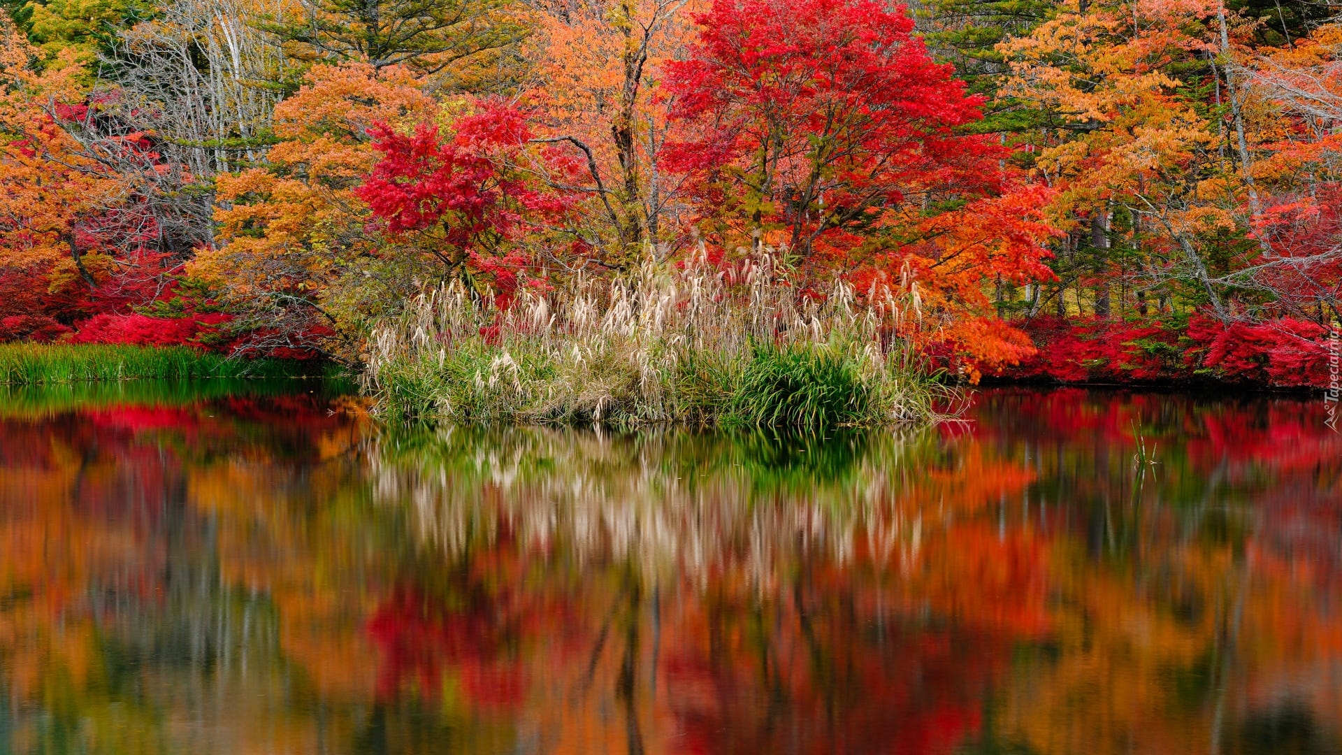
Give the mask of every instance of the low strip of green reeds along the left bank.
M 0 383 L 39 386 L 89 380 L 291 378 L 302 363 L 229 359 L 185 347 L 0 344 Z

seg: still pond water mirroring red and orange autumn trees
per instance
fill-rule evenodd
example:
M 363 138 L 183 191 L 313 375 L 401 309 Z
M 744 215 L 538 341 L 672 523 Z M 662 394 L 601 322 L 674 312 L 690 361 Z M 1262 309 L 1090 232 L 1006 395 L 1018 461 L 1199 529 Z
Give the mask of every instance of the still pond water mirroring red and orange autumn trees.
M 129 391 L 129 392 L 127 392 Z M 777 439 L 0 392 L 0 752 L 1325 754 L 1322 400 Z

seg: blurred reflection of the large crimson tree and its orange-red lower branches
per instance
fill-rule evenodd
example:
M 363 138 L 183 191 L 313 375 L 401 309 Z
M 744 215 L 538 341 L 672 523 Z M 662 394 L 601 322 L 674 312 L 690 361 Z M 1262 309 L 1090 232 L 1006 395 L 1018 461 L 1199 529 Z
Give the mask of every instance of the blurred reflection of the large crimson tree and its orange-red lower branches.
M 660 684 L 679 752 L 953 752 L 1013 642 L 1049 630 L 1045 544 L 966 523 L 911 571 L 804 559 L 757 592 L 717 575 L 678 605 Z

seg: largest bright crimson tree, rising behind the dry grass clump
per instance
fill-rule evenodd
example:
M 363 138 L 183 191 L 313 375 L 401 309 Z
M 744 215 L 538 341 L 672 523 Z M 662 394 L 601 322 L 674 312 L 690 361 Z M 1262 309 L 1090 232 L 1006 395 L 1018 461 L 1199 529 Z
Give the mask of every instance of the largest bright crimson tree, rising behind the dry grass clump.
M 662 159 L 726 235 L 809 258 L 911 199 L 984 188 L 992 146 L 956 134 L 981 99 L 933 63 L 902 5 L 714 0 L 696 21 L 667 71 L 680 133 Z

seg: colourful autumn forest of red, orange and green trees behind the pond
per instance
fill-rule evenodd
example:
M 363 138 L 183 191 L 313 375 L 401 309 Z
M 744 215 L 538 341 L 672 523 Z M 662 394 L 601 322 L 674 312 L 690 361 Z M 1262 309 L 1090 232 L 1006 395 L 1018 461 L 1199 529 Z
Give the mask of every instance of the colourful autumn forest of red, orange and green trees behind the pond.
M 711 285 L 772 304 L 714 314 L 749 337 L 695 341 L 703 363 L 727 341 L 860 329 L 882 353 L 843 352 L 859 356 L 835 357 L 835 380 L 1329 387 L 1342 26 L 1326 3 L 3 5 L 0 341 L 318 359 L 393 398 L 435 360 L 479 373 L 444 365 L 474 349 L 518 382 L 494 414 L 600 418 L 623 388 L 535 408 L 523 376 L 586 386 L 588 368 L 490 349 L 548 317 L 578 337 L 589 309 L 601 337 L 646 347 Z M 627 359 L 596 336 L 569 351 L 637 363 L 627 382 L 644 384 L 694 361 L 654 335 Z M 568 353 L 557 337 L 546 353 Z M 752 353 L 722 369 L 823 371 Z M 687 380 L 713 369 L 621 411 L 757 418 L 695 398 Z M 917 414 L 887 383 L 871 406 Z

